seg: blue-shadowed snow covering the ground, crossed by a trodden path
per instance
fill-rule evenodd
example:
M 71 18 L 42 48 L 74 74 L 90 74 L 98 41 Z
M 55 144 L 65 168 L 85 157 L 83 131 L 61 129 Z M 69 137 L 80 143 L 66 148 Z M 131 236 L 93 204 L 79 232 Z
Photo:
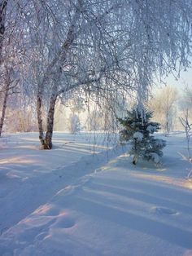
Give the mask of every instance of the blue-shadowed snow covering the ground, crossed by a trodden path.
M 192 255 L 184 134 L 162 166 L 133 166 L 97 136 L 56 133 L 51 151 L 37 134 L 0 140 L 0 255 Z

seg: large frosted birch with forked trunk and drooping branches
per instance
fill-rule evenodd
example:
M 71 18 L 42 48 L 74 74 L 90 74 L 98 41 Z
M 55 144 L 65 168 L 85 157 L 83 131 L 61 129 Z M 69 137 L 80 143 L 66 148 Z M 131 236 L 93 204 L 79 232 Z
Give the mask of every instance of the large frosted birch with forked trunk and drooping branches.
M 42 148 L 52 148 L 59 96 L 84 90 L 102 100 L 111 91 L 132 90 L 142 108 L 155 77 L 188 67 L 191 0 L 18 2 L 25 28 L 20 46 L 28 85 L 37 95 Z

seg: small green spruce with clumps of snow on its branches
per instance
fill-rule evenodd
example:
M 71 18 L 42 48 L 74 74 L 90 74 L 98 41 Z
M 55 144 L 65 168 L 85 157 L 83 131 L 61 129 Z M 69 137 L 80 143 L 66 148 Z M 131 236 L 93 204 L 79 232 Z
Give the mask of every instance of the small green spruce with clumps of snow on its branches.
M 118 118 L 124 130 L 120 130 L 120 141 L 131 143 L 130 155 L 133 156 L 133 165 L 139 158 L 159 163 L 159 157 L 163 156 L 162 149 L 166 146 L 163 139 L 155 139 L 154 132 L 160 129 L 158 122 L 150 121 L 152 112 L 137 108 L 128 111 L 128 116 Z

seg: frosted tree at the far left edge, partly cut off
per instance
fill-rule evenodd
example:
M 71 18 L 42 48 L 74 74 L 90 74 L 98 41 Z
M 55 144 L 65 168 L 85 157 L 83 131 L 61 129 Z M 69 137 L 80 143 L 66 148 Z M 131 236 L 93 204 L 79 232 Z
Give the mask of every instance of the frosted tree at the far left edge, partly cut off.
M 0 2 L 0 93 L 2 95 L 2 113 L 0 117 L 0 137 L 6 117 L 7 100 L 9 95 L 18 92 L 15 87 L 19 83 L 18 65 L 20 50 L 16 47 L 18 38 L 13 33 L 16 29 L 18 11 L 13 12 L 15 4 L 11 0 Z M 18 30 L 17 30 L 18 33 Z M 20 35 L 18 33 L 17 37 Z

